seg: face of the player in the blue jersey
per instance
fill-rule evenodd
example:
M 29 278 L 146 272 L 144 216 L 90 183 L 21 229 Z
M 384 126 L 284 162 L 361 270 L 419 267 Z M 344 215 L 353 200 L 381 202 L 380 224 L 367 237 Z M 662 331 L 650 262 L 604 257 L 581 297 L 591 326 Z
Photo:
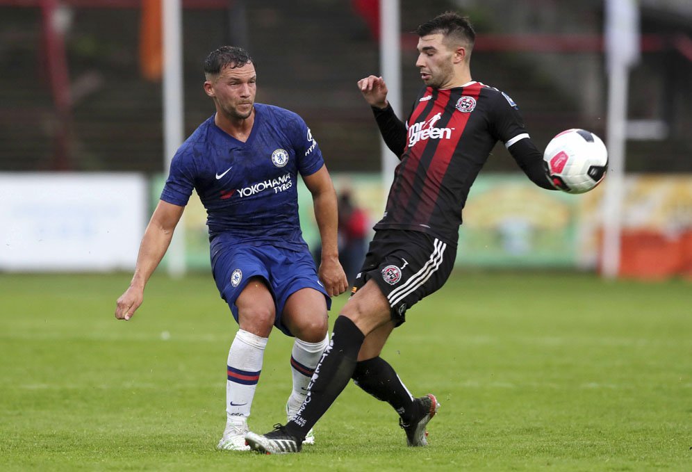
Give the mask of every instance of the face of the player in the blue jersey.
M 204 83 L 217 111 L 230 120 L 245 120 L 252 115 L 257 92 L 257 74 L 252 63 L 242 67 L 224 67 L 213 81 Z

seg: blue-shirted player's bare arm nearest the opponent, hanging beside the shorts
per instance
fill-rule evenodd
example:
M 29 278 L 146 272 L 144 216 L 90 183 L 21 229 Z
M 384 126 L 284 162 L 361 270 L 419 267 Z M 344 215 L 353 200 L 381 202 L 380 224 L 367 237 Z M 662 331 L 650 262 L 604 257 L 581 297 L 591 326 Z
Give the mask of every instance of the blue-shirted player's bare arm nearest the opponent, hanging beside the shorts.
M 304 176 L 303 181 L 313 195 L 315 220 L 322 241 L 322 262 L 318 275 L 329 296 L 334 297 L 348 288 L 346 274 L 339 262 L 336 190 L 324 165 L 314 174 Z

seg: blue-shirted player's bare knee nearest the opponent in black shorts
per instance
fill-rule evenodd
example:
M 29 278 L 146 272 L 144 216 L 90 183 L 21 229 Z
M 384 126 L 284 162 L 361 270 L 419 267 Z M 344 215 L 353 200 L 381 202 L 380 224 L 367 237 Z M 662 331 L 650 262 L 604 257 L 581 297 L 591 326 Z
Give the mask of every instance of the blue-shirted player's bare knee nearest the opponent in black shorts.
M 327 302 L 324 293 L 314 288 L 300 288 L 283 306 L 281 320 L 298 339 L 318 343 L 327 335 Z

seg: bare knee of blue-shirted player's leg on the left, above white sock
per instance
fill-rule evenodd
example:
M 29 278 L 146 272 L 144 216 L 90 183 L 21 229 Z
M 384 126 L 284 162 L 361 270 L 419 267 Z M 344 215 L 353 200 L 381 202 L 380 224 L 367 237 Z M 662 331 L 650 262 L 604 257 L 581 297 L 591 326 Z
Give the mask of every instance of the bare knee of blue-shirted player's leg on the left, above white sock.
M 266 338 L 276 318 L 274 297 L 262 277 L 251 277 L 236 298 L 238 326 L 256 336 Z

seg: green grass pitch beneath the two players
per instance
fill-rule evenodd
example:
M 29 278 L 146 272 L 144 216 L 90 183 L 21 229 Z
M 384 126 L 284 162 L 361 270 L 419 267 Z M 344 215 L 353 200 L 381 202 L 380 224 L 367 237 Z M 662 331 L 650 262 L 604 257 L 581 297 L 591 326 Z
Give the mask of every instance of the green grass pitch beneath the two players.
M 0 470 L 692 470 L 692 283 L 456 272 L 384 357 L 442 402 L 430 446 L 350 384 L 299 455 L 215 450 L 236 324 L 211 275 L 0 275 Z M 335 302 L 331 321 L 345 301 Z M 267 346 L 250 425 L 285 421 L 290 340 Z

